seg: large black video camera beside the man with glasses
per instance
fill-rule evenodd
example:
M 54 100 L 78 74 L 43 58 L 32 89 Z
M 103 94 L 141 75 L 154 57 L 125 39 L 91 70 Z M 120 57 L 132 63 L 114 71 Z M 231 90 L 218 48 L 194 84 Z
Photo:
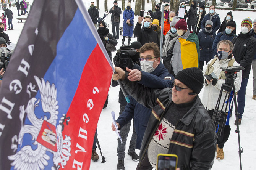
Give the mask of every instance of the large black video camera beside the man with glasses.
M 139 62 L 139 56 L 136 56 L 137 51 L 131 46 L 120 46 L 120 50 L 117 51 L 113 61 L 116 67 L 120 67 L 125 70 L 126 67 L 132 69 L 134 63 Z M 138 61 L 134 60 L 137 58 Z M 139 64 L 139 63 L 138 63 Z

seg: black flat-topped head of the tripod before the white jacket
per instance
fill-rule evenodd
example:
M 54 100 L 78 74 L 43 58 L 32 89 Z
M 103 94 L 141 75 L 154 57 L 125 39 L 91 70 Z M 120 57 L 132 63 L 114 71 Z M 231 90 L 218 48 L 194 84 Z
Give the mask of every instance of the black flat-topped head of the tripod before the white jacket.
M 235 79 L 237 78 L 237 72 L 240 70 L 245 70 L 244 67 L 239 67 L 239 66 L 233 66 L 233 67 L 220 67 L 223 71 L 225 71 L 225 84 L 227 85 L 233 85 L 235 82 Z

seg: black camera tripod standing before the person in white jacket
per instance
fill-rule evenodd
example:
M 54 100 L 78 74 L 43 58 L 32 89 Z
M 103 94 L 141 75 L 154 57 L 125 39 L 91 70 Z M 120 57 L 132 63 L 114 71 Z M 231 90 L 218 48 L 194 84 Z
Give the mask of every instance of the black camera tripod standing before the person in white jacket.
M 212 121 L 214 122 L 214 125 L 216 127 L 216 131 L 217 131 L 217 138 L 219 138 L 219 136 L 221 136 L 221 132 L 222 132 L 222 128 L 224 127 L 224 122 L 225 120 L 227 119 L 227 107 L 228 107 L 228 104 L 231 103 L 230 102 L 230 96 L 232 94 L 232 91 L 233 91 L 233 97 L 234 97 L 234 103 L 235 103 L 235 117 L 236 117 L 236 125 L 237 125 L 237 129 L 235 130 L 235 132 L 237 133 L 238 135 L 238 146 L 239 146 L 239 159 L 240 159 L 240 170 L 242 170 L 242 160 L 241 160 L 241 154 L 243 153 L 243 148 L 241 148 L 240 146 L 240 131 L 239 131 L 239 125 L 238 125 L 238 112 L 237 112 L 237 99 L 236 99 L 236 95 L 235 95 L 235 85 L 234 85 L 234 82 L 235 82 L 235 78 L 236 78 L 236 72 L 235 73 L 232 73 L 232 79 L 228 79 L 228 77 L 230 76 L 227 76 L 227 71 L 226 71 L 226 80 L 225 80 L 225 83 L 222 84 L 221 86 L 221 90 L 220 90 L 220 94 L 219 94 L 219 98 L 217 100 L 217 104 L 216 104 L 216 107 L 215 107 L 215 110 L 213 112 L 213 116 L 212 116 Z M 219 109 L 220 107 L 220 101 L 221 101 L 221 97 L 222 97 L 222 93 L 223 93 L 223 90 L 227 91 L 226 92 L 226 95 L 225 95 L 225 98 L 224 98 L 224 101 L 223 101 L 223 104 L 222 104 L 222 107 L 221 109 Z M 223 108 L 224 108 L 224 105 L 225 105 L 225 101 L 227 101 L 227 104 L 225 106 L 225 111 L 223 111 Z M 224 130 L 225 131 L 225 130 Z M 230 133 L 230 127 L 229 127 L 229 132 L 227 132 L 228 135 L 226 134 L 223 134 L 223 140 L 222 141 L 227 141 L 228 140 L 228 136 L 229 136 L 229 133 Z

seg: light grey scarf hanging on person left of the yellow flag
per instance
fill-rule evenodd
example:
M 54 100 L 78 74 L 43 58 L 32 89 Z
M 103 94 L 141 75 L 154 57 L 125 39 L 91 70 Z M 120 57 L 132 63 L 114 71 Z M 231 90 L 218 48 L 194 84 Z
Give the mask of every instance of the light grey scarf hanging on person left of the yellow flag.
M 170 40 L 171 37 L 174 37 L 174 38 Z M 174 34 L 171 32 L 171 30 L 167 32 L 164 40 L 162 59 L 167 59 L 167 51 L 170 50 L 170 48 L 173 46 L 173 44 L 176 42 L 177 39 L 178 39 L 177 32 Z

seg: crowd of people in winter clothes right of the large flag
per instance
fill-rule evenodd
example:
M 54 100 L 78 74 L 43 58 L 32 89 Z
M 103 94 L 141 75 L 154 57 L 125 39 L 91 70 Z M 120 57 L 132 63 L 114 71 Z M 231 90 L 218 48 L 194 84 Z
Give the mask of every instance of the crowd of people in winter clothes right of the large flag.
M 129 67 L 120 66 L 120 50 L 113 58 L 116 74 L 113 75 L 112 86 L 117 86 L 116 80 L 120 79 L 130 99 L 130 103 L 127 103 L 120 90 L 120 113 L 116 120 L 118 129 L 113 123 L 111 126 L 113 131 L 120 130 L 123 140 L 121 143 L 118 139 L 117 169 L 125 169 L 125 143 L 131 120 L 133 135 L 127 153 L 134 161 L 139 161 L 136 170 L 156 168 L 159 153 L 176 154 L 178 167 L 182 170 L 210 169 L 215 151 L 216 159 L 224 159 L 223 148 L 227 140 L 223 136 L 229 135 L 222 130 L 222 135 L 217 137 L 211 120 L 226 79 L 220 67 L 245 68 L 237 72 L 234 81 L 233 93 L 237 94 L 238 111 L 235 125 L 242 122 L 251 67 L 253 99 L 256 99 L 256 19 L 245 18 L 238 24 L 231 11 L 222 18 L 215 11 L 215 6 L 210 6 L 207 13 L 204 4 L 196 1 L 191 2 L 188 11 L 186 3 L 181 2 L 180 8 L 185 8 L 183 17 L 178 17 L 178 11 L 170 11 L 168 4 L 164 6 L 163 13 L 160 8 L 161 3 L 156 4 L 155 12 L 149 10 L 149 16 L 139 16 L 138 21 L 134 21 L 130 2 L 126 3 L 123 11 L 122 46 L 125 46 L 125 38 L 128 37 L 127 45 L 134 53 L 130 55 L 132 66 Z M 88 12 L 96 24 L 99 13 L 94 2 Z M 97 31 L 104 45 L 109 42 L 116 46 L 122 14 L 117 1 L 114 1 L 109 13 L 112 14 L 113 35 L 104 21 L 98 21 Z M 162 17 L 164 24 L 161 26 Z M 238 35 L 237 24 L 241 27 Z M 131 43 L 133 34 L 137 41 Z M 161 43 L 162 55 L 159 50 Z M 111 51 L 108 53 L 112 60 Z M 204 77 L 212 73 L 217 78 Z M 200 100 L 198 94 L 203 87 Z M 223 96 L 225 93 L 222 94 L 224 99 Z M 224 101 L 220 103 L 225 105 Z M 231 117 L 232 107 L 233 103 L 229 110 L 220 106 L 222 114 Z M 139 156 L 135 149 L 140 149 Z M 99 159 L 96 154 L 94 149 L 94 161 Z

